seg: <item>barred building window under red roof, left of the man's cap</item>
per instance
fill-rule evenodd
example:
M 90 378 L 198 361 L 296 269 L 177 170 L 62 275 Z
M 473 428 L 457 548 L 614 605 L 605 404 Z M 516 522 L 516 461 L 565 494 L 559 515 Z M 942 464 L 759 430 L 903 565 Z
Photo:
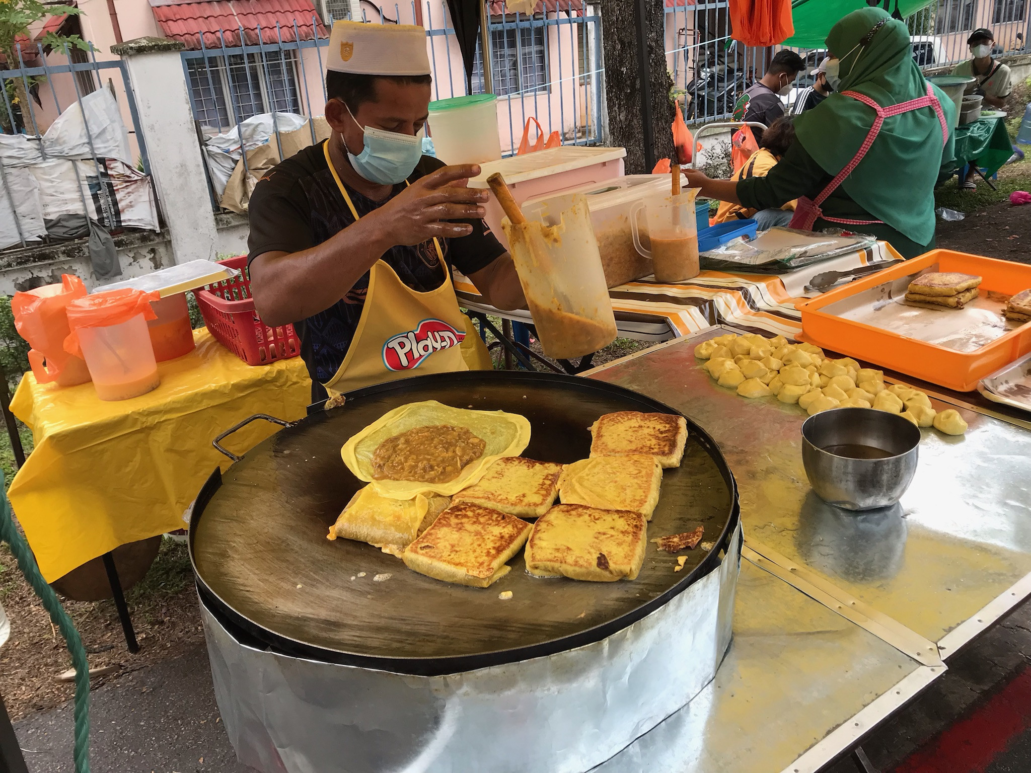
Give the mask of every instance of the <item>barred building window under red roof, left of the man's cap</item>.
M 190 59 L 194 117 L 223 129 L 262 112 L 301 111 L 292 53 Z M 232 100 L 232 106 L 230 101 Z

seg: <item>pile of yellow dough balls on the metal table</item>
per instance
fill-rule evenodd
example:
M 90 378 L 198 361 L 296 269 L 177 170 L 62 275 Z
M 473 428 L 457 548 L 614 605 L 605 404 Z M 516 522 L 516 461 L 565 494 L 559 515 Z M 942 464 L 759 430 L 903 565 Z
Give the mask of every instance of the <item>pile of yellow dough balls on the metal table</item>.
M 776 396 L 810 416 L 831 408 L 874 408 L 947 435 L 967 429 L 958 411 L 935 411 L 923 392 L 902 383 L 886 386 L 884 371 L 860 367 L 851 357 L 832 360 L 811 343 L 728 333 L 698 344 L 695 357 L 708 360 L 703 367 L 721 386 L 735 389 L 741 397 Z

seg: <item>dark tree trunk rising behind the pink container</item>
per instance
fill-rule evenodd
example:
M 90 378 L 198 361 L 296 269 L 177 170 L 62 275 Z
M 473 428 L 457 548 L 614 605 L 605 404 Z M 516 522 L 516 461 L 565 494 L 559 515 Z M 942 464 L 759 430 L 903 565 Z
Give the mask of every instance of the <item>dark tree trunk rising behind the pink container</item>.
M 665 3 L 644 3 L 644 37 L 647 53 L 647 85 L 652 122 L 648 131 L 655 159 L 675 158 L 673 149 L 674 106 L 669 101 L 673 81 L 666 64 Z M 601 31 L 604 43 L 605 101 L 608 107 L 609 144 L 627 148 L 627 174 L 646 174 L 644 128 L 641 123 L 641 78 L 637 56 L 636 3 L 634 0 L 601 0 Z

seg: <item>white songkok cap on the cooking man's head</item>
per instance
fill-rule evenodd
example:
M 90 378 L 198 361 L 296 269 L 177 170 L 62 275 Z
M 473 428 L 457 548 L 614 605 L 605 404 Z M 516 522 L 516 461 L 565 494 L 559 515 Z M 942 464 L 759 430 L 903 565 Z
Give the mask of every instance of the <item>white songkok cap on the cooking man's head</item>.
M 429 75 L 426 30 L 415 25 L 336 22 L 326 69 L 358 75 Z

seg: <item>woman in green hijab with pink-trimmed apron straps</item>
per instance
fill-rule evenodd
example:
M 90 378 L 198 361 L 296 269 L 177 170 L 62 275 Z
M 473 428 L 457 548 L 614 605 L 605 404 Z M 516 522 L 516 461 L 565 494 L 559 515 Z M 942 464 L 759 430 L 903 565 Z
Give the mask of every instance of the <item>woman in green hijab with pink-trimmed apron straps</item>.
M 690 184 L 754 209 L 802 197 L 793 228 L 844 228 L 922 255 L 934 247 L 934 184 L 953 160 L 956 107 L 924 79 L 906 26 L 879 8 L 849 13 L 827 47 L 835 93 L 795 119 L 780 163 L 736 182 L 688 170 Z

